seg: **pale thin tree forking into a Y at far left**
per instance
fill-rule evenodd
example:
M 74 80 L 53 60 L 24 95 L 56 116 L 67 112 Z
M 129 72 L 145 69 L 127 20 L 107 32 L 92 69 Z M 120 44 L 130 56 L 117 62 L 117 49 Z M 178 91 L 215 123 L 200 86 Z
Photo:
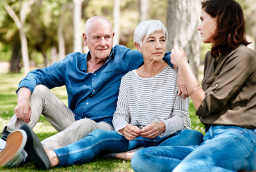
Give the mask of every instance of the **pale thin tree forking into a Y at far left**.
M 9 4 L 5 4 L 4 8 L 13 18 L 15 24 L 19 29 L 19 36 L 21 42 L 21 52 L 22 52 L 22 60 L 24 64 L 24 75 L 27 75 L 29 72 L 29 55 L 28 55 L 28 41 L 26 38 L 26 32 L 24 31 L 25 22 L 26 22 L 26 10 L 34 4 L 37 0 L 30 0 L 28 2 L 24 1 L 24 3 L 20 4 L 20 18 L 16 15 L 13 9 L 9 6 Z

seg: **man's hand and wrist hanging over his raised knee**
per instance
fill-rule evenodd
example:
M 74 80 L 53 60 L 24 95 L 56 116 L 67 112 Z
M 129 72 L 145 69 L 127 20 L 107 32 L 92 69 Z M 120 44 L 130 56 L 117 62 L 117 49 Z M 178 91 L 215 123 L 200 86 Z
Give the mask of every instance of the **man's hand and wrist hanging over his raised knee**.
M 18 104 L 15 107 L 15 115 L 23 120 L 26 124 L 30 122 L 31 106 L 30 106 L 31 91 L 26 87 L 21 87 L 18 92 Z

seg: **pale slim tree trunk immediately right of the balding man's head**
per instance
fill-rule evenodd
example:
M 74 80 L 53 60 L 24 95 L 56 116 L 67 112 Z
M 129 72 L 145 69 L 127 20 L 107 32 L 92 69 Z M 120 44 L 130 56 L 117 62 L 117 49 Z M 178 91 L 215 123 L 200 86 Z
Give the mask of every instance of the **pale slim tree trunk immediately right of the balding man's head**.
M 119 18 L 120 18 L 120 0 L 115 0 L 114 2 L 114 10 L 113 10 L 113 20 L 114 20 L 114 32 L 115 36 L 113 38 L 113 46 L 119 44 L 120 38 L 120 25 L 119 25 Z

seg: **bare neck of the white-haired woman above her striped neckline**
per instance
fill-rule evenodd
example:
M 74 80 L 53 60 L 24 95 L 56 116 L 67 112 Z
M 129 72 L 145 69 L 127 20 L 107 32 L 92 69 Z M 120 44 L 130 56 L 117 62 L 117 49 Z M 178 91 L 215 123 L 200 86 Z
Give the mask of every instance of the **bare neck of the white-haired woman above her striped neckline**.
M 161 73 L 167 66 L 168 64 L 163 60 L 147 61 L 147 59 L 144 59 L 143 66 L 137 69 L 137 74 L 143 78 L 149 78 Z

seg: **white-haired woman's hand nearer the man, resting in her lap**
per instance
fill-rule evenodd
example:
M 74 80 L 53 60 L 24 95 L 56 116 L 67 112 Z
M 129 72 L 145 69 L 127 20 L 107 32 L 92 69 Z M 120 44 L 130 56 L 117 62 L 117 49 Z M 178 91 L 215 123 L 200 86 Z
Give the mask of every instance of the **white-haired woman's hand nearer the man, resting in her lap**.
M 140 129 L 134 125 L 126 124 L 124 129 L 119 130 L 127 140 L 134 140 L 134 138 L 140 136 Z

